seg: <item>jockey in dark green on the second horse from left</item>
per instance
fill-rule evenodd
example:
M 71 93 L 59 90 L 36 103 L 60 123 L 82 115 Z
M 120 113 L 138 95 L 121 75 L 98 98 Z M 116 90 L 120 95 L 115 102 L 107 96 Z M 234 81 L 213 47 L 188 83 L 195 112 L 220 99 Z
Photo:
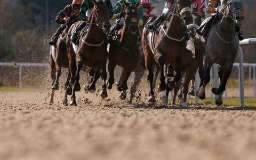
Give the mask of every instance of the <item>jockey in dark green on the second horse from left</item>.
M 110 19 L 113 17 L 113 7 L 110 0 L 106 1 L 106 5 L 109 9 L 109 19 Z M 80 14 L 79 14 L 79 17 L 82 20 L 82 22 L 79 24 L 79 26 L 75 29 L 75 31 L 70 36 L 70 41 L 73 42 L 74 44 L 76 43 L 76 37 L 79 31 L 81 31 L 87 25 L 86 21 L 88 21 L 89 18 L 91 17 L 93 7 L 94 7 L 94 4 L 92 0 L 84 0 L 82 2 Z

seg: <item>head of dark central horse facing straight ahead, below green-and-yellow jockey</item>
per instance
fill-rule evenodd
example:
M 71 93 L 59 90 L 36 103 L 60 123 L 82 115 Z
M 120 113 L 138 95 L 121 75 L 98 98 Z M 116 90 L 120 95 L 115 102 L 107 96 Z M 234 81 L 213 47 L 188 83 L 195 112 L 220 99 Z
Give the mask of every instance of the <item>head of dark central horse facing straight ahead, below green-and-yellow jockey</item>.
M 139 21 L 139 1 L 136 4 L 128 4 L 124 1 L 126 6 L 125 10 L 125 25 L 132 34 L 136 34 L 138 31 L 138 21 Z

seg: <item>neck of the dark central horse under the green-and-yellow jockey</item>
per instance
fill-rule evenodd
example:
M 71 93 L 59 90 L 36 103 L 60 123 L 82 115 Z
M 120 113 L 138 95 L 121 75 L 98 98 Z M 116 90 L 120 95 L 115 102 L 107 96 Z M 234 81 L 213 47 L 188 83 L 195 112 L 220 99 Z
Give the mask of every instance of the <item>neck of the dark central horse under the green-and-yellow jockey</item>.
M 130 33 L 130 31 L 126 27 L 126 23 L 124 23 L 124 26 L 122 28 L 120 42 L 123 43 L 123 45 L 125 47 L 132 47 L 137 42 L 137 36 L 138 36 L 137 34 Z M 134 41 L 131 41 L 132 39 Z

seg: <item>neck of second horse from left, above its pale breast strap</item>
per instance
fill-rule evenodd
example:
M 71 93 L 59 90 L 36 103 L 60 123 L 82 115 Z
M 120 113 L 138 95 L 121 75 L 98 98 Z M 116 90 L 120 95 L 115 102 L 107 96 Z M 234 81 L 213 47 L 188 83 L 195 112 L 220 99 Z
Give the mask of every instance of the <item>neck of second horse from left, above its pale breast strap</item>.
M 102 41 L 102 39 L 105 37 L 103 36 L 103 34 L 101 34 L 102 30 L 96 25 L 97 21 L 96 21 L 96 15 L 94 10 L 95 9 L 93 9 L 92 11 L 92 18 L 90 21 L 90 23 L 94 23 L 94 24 L 89 25 L 87 34 L 85 36 L 86 36 L 86 39 L 90 39 L 91 42 L 99 42 L 99 40 Z

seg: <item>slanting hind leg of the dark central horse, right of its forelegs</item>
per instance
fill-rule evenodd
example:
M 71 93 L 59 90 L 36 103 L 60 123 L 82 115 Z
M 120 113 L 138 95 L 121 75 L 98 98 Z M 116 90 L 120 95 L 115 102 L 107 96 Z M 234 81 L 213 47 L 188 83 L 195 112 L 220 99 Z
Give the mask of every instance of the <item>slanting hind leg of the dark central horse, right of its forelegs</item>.
M 139 66 L 137 68 L 137 70 L 135 71 L 135 78 L 134 78 L 134 82 L 131 86 L 131 92 L 130 92 L 131 93 L 131 97 L 130 97 L 130 101 L 129 101 L 130 104 L 132 103 L 132 99 L 134 97 L 134 94 L 137 90 L 138 85 L 141 82 L 141 78 L 142 78 L 144 72 L 145 72 L 145 68 L 143 68 L 142 66 Z

